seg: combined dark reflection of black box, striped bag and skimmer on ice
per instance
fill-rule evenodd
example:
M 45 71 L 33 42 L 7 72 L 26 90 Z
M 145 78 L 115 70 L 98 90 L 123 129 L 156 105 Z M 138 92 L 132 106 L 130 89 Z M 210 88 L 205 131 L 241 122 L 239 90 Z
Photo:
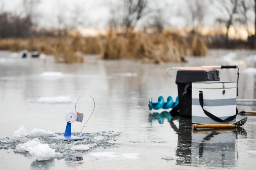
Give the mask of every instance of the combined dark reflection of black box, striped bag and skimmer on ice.
M 174 121 L 179 119 L 178 127 Z M 236 166 L 238 135 L 247 137 L 244 128 L 192 130 L 190 118 L 172 117 L 171 128 L 178 134 L 176 162 L 178 164 L 213 167 Z

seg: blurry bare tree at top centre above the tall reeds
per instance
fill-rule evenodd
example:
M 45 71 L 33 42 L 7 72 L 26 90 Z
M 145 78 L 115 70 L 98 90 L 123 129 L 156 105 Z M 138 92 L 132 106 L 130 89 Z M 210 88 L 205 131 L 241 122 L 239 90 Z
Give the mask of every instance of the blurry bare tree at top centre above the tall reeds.
M 148 0 L 124 0 L 110 6 L 110 24 L 115 29 L 134 29 L 137 22 L 146 15 Z

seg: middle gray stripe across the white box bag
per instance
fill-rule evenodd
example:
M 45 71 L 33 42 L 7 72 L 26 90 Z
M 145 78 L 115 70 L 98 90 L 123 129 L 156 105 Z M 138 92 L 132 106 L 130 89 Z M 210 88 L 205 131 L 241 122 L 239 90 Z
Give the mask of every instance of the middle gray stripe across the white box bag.
M 199 99 L 192 98 L 192 105 L 199 105 Z M 236 105 L 236 99 L 215 99 L 209 100 L 204 99 L 204 106 L 227 106 L 227 105 Z

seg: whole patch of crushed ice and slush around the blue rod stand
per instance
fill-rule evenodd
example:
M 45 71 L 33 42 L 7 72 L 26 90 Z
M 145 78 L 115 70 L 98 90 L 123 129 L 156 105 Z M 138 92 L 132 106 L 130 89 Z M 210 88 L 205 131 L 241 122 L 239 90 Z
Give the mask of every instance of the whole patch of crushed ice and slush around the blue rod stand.
M 72 133 L 79 136 L 80 133 Z M 38 161 L 45 161 L 54 158 L 64 158 L 74 155 L 76 152 L 88 152 L 94 148 L 109 148 L 116 146 L 115 139 L 121 133 L 117 132 L 95 132 L 82 133 L 83 140 L 79 141 L 58 141 L 52 137 L 63 135 L 51 131 L 34 128 L 29 135 L 26 135 L 24 126 L 13 132 L 11 137 L 0 139 L 0 149 L 13 149 L 16 153 L 31 155 Z

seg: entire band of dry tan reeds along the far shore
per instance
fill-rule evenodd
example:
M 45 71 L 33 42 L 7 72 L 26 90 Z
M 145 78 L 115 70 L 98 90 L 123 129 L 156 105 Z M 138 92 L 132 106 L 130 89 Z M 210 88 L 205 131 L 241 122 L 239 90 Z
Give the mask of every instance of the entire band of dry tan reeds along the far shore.
M 94 37 L 39 37 L 0 39 L 0 50 L 39 51 L 53 54 L 56 62 L 83 62 L 83 54 L 101 54 L 103 59 L 130 58 L 144 62 L 184 62 L 189 50 L 188 40 L 177 33 L 137 33 L 132 30 Z M 198 36 L 191 43 L 192 55 L 206 55 L 207 46 Z

